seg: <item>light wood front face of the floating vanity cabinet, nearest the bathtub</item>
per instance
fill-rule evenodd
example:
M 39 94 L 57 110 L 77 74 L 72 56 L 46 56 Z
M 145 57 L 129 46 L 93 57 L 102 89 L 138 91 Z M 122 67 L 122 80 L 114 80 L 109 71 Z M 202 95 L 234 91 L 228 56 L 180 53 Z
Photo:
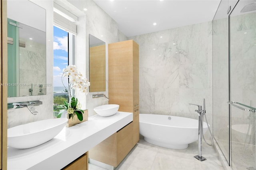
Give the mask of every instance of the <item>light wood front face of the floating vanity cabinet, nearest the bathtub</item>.
M 133 123 L 129 123 L 116 133 L 116 163 L 117 165 L 132 149 L 133 141 Z

